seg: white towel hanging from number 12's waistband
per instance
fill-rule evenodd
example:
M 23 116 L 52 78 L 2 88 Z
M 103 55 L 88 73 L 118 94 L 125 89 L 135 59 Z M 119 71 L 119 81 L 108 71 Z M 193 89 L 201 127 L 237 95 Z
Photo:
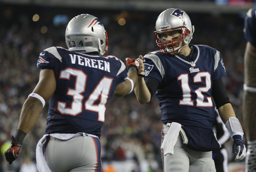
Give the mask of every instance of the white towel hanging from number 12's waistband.
M 161 145 L 161 149 L 164 149 L 164 156 L 173 155 L 173 147 L 177 142 L 179 133 L 180 133 L 181 124 L 177 122 L 172 122 L 171 126 L 164 136 L 163 143 Z

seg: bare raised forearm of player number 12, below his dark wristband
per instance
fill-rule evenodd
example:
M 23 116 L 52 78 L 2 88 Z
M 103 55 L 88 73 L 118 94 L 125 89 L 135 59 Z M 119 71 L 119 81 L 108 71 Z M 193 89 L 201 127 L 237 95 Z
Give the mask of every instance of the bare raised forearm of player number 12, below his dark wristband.
M 151 95 L 143 77 L 138 77 L 138 85 L 134 92 L 140 104 L 146 104 L 150 101 Z

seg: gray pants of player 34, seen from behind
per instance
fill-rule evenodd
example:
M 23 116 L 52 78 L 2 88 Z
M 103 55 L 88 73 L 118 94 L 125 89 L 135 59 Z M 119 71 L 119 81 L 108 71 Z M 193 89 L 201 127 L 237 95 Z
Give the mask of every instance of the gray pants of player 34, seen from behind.
M 100 172 L 100 140 L 78 136 L 69 140 L 51 137 L 45 153 L 52 172 Z

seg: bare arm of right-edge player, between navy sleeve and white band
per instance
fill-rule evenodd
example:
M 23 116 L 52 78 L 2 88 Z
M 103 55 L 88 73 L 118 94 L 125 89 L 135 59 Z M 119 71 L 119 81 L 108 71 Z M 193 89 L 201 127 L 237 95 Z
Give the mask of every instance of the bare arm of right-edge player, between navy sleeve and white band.
M 246 44 L 244 55 L 244 83 L 248 87 L 256 88 L 256 47 L 251 43 Z

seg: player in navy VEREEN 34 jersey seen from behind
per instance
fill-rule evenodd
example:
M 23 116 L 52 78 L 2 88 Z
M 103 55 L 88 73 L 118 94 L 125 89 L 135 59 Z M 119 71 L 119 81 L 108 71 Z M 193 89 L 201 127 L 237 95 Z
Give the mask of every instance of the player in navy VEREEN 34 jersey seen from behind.
M 12 164 L 24 137 L 49 100 L 45 135 L 36 147 L 38 171 L 101 171 L 101 127 L 109 100 L 137 84 L 139 62 L 125 64 L 107 56 L 108 37 L 101 21 L 81 14 L 66 28 L 68 50 L 50 47 L 40 53 L 39 82 L 25 101 L 12 144 L 5 151 Z

